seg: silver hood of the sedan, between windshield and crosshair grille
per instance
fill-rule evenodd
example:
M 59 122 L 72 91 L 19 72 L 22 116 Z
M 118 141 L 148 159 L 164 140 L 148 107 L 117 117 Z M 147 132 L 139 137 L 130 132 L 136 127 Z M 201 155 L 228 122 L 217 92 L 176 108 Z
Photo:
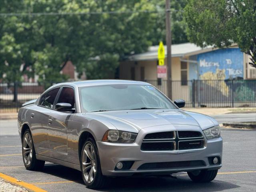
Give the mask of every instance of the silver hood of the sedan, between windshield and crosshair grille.
M 200 126 L 202 130 L 218 125 L 210 116 L 183 110 L 124 110 L 86 113 L 85 116 L 101 122 L 108 121 L 116 129 L 130 132 L 168 124 Z

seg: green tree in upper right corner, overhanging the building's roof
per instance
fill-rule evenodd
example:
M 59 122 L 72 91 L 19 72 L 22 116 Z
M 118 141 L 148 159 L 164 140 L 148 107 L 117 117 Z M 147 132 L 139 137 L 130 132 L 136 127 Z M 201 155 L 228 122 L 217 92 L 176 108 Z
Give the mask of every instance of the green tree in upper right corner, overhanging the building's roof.
M 184 17 L 191 42 L 220 48 L 237 43 L 256 67 L 255 0 L 189 0 Z

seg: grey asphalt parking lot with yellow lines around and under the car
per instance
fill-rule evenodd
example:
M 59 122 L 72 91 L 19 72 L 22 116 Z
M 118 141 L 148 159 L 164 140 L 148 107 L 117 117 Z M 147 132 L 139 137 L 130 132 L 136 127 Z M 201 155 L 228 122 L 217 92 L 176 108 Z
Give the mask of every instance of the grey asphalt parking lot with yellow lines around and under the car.
M 96 191 L 84 186 L 79 171 L 64 166 L 47 162 L 42 172 L 26 170 L 16 120 L 2 120 L 0 124 L 1 173 L 48 192 Z M 256 131 L 223 129 L 221 135 L 223 166 L 213 182 L 196 184 L 181 172 L 158 178 L 114 178 L 100 191 L 256 191 Z

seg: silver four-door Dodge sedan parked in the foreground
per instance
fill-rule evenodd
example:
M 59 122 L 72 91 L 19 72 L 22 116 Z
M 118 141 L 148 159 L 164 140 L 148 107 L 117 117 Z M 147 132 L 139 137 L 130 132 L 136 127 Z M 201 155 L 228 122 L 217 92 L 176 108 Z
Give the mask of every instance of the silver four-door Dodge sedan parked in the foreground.
M 115 176 L 176 172 L 210 182 L 222 166 L 220 127 L 210 116 L 180 110 L 184 105 L 146 82 L 56 84 L 19 110 L 24 165 L 80 170 L 89 188 Z

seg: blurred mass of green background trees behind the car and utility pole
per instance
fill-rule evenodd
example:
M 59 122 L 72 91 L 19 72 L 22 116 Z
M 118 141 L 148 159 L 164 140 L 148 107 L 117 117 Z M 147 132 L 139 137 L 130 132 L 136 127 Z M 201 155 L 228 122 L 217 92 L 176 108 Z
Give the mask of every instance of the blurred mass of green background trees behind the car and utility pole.
M 184 1 L 176 8 L 184 7 Z M 4 77 L 5 81 L 13 82 L 22 80 L 22 74 L 28 77 L 37 74 L 39 82 L 59 82 L 67 78 L 60 70 L 68 60 L 80 75 L 86 71 L 89 79 L 111 77 L 126 55 L 146 51 L 148 46 L 165 40 L 164 2 L 1 0 L 0 13 L 21 15 L 0 16 L 0 79 Z M 158 8 L 160 12 L 156 12 Z M 94 14 L 109 11 L 119 13 Z M 92 14 L 66 14 L 81 12 Z M 173 42 L 184 42 L 182 14 L 174 16 L 177 22 L 173 24 L 176 28 Z

